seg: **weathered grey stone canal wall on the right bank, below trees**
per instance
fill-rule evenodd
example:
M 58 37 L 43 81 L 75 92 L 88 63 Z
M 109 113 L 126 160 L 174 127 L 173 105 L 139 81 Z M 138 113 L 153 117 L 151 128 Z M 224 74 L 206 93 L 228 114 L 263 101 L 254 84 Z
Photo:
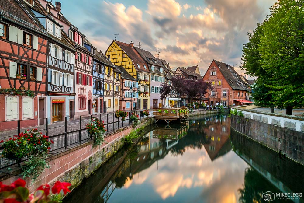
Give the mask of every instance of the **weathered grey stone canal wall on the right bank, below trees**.
M 254 115 L 244 117 L 231 115 L 231 128 L 233 130 L 265 145 L 266 147 L 286 155 L 301 164 L 304 164 L 304 133 L 276 124 L 269 124 L 269 117 Z M 292 121 L 289 121 L 292 123 Z

